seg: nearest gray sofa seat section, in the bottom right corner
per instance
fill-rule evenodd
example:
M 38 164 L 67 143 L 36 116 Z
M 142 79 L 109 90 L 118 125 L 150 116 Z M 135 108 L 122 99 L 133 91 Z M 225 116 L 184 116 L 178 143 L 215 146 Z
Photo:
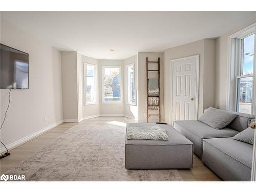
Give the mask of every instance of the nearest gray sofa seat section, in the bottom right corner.
M 231 138 L 205 139 L 202 161 L 224 181 L 250 181 L 252 147 Z

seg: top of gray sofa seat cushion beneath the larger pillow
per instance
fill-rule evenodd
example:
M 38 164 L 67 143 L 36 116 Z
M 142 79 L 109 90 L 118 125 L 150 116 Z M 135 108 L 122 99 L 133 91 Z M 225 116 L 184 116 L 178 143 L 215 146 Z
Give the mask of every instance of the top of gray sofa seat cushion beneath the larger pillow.
M 216 130 L 198 120 L 183 120 L 175 122 L 183 126 L 187 131 L 194 133 L 201 139 L 216 137 L 233 137 L 234 135 L 239 133 L 238 131 L 234 131 L 226 127 L 222 130 Z

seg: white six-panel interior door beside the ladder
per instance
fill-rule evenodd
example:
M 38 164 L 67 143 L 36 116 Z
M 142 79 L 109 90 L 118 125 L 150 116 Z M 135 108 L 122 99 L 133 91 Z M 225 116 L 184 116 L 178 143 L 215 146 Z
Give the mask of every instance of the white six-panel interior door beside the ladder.
M 172 60 L 171 123 L 197 119 L 199 55 Z

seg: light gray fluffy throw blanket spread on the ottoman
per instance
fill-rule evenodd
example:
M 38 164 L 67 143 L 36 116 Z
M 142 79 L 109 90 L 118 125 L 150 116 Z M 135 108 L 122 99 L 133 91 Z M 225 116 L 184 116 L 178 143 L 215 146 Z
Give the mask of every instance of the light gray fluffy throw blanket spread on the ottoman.
M 151 139 L 151 140 L 168 140 L 165 129 L 159 125 L 155 126 L 130 126 L 126 130 L 127 139 Z

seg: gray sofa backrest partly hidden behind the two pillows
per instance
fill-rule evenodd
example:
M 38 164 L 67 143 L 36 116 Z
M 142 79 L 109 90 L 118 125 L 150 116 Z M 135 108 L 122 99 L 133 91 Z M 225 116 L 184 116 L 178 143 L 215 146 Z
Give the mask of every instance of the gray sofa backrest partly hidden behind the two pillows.
M 209 108 L 208 108 L 209 109 Z M 207 109 L 204 110 L 204 112 L 207 111 Z M 237 117 L 234 118 L 231 123 L 229 123 L 226 127 L 232 130 L 236 130 L 238 132 L 242 132 L 247 129 L 249 126 L 251 120 L 255 119 L 254 115 L 249 115 L 245 113 L 238 113 L 238 112 L 233 112 L 233 111 L 226 111 L 226 110 L 221 110 L 226 113 L 231 113 L 231 114 L 237 114 Z

